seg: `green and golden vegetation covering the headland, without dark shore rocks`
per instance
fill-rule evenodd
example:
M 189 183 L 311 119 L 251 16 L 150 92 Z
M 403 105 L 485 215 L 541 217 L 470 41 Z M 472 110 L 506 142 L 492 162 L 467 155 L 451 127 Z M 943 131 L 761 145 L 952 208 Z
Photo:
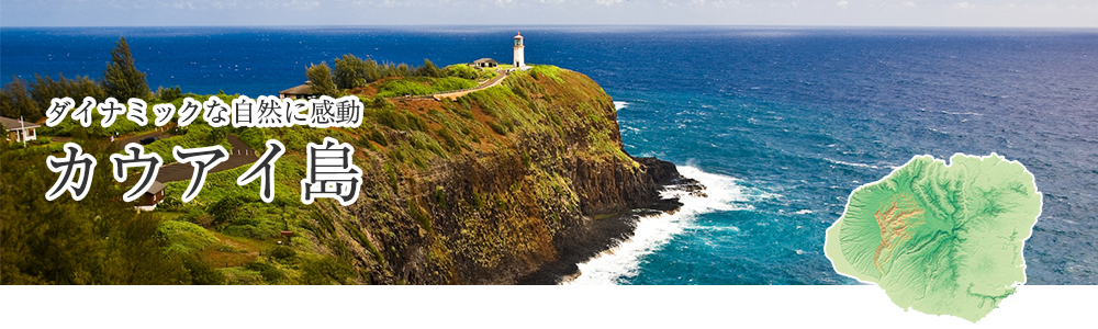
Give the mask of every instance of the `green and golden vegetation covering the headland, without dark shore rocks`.
M 276 163 L 271 203 L 259 200 L 259 180 L 236 184 L 248 169 L 243 166 L 210 173 L 202 192 L 189 203 L 179 198 L 189 182 L 168 182 L 166 198 L 155 211 L 135 213 L 133 204 L 117 201 L 123 189 L 110 177 L 107 157 L 120 150 L 101 137 L 139 132 L 126 127 L 125 120 L 115 123 L 119 128 L 105 131 L 98 125 L 74 126 L 70 120 L 43 131 L 71 136 L 100 159 L 92 194 L 80 202 L 68 195 L 51 203 L 42 197 L 56 179 L 45 168 L 45 157 L 58 155 L 61 144 L 0 147 L 4 164 L 0 279 L 3 283 L 455 283 L 460 282 L 459 266 L 466 264 L 459 263 L 466 259 L 494 273 L 504 272 L 494 270 L 504 269 L 508 260 L 535 263 L 551 257 L 554 232 L 569 218 L 581 216 L 580 196 L 561 163 L 573 159 L 600 166 L 634 163 L 614 138 L 609 98 L 582 75 L 544 69 L 516 73 L 498 87 L 456 101 L 386 100 L 386 95 L 474 87 L 470 72 L 478 79 L 494 72 L 466 70 L 468 66 L 442 70 L 425 61 L 422 67 L 373 63 L 377 72 L 371 73 L 370 63 L 344 56 L 336 60 L 335 72 L 325 72 L 323 64 L 311 69 L 317 80 L 332 78 L 333 89 L 374 83 L 370 88 L 378 94 L 359 95 L 367 107 L 360 127 L 214 128 L 199 118 L 145 146 L 172 162 L 175 146 L 229 148 L 226 137 L 232 134 L 261 152 L 268 139 L 278 139 L 287 154 Z M 36 101 L 30 91 L 25 94 L 18 101 Z M 158 89 L 149 107 L 166 102 L 179 106 L 186 97 L 199 101 L 210 97 L 183 94 L 178 87 Z M 356 146 L 354 161 L 365 171 L 366 182 L 354 206 L 300 201 L 305 145 L 325 136 Z M 498 178 L 485 177 L 488 171 Z

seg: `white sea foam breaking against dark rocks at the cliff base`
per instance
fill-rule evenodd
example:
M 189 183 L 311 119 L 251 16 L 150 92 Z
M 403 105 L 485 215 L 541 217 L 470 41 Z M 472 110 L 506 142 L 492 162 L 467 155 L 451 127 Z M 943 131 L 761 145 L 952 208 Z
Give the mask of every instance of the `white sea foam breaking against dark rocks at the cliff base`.
M 714 212 L 749 211 L 744 202 L 774 197 L 775 195 L 747 189 L 731 177 L 704 172 L 694 167 L 680 166 L 682 175 L 706 186 L 706 196 L 690 195 L 682 191 L 663 192 L 664 196 L 680 196 L 683 203 L 674 214 L 659 214 L 640 218 L 631 239 L 578 264 L 580 276 L 564 284 L 617 284 L 623 276 L 636 273 L 643 256 L 663 247 L 680 235 L 698 215 Z

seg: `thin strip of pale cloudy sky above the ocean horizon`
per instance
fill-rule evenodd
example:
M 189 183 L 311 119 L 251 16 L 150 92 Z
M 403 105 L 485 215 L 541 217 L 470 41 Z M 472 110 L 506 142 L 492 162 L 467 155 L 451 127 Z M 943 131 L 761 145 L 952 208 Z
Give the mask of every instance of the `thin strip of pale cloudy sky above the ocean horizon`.
M 0 26 L 1098 27 L 1095 0 L 3 0 Z

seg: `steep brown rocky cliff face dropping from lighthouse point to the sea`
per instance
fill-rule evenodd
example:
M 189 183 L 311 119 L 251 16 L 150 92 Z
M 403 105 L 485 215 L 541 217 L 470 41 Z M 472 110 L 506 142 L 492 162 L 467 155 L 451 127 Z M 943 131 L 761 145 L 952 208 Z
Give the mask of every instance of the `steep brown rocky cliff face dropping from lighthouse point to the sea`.
M 550 283 L 561 271 L 547 269 L 628 236 L 634 222 L 615 215 L 653 207 L 679 175 L 626 155 L 610 98 L 573 71 L 538 67 L 456 102 L 383 107 L 395 124 L 352 132 L 363 194 L 321 203 L 317 222 L 332 224 L 306 237 L 351 260 L 360 283 Z

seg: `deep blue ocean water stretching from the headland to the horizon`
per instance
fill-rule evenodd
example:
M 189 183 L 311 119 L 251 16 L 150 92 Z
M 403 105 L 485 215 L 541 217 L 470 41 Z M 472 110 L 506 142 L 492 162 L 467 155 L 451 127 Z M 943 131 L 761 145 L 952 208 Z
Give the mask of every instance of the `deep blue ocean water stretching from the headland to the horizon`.
M 851 284 L 825 229 L 912 156 L 997 152 L 1044 193 L 1029 284 L 1098 284 L 1098 31 L 749 27 L 0 29 L 0 76 L 102 76 L 126 36 L 150 86 L 277 94 L 343 54 L 438 65 L 526 58 L 592 77 L 626 149 L 710 198 L 642 220 L 581 266 L 619 284 Z M 597 263 L 597 264 L 596 264 Z

